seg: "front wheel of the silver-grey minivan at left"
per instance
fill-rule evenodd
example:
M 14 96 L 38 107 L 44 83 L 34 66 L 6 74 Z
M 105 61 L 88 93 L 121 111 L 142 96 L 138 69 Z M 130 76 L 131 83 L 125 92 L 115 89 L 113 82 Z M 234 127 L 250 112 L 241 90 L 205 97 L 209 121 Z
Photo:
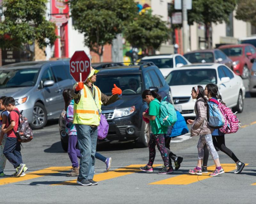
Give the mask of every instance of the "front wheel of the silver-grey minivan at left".
M 36 103 L 33 108 L 33 119 L 30 124 L 32 129 L 41 129 L 46 125 L 47 112 L 43 104 Z

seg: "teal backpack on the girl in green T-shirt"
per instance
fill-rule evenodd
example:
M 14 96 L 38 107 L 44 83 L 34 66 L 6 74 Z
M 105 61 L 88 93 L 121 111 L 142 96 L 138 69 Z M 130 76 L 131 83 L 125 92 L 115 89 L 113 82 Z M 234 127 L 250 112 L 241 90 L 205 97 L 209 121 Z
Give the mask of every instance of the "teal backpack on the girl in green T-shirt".
M 167 96 L 164 97 L 161 102 L 159 102 L 158 100 L 154 100 L 160 104 L 160 118 L 156 117 L 157 128 L 160 128 L 158 127 L 158 121 L 164 127 L 173 126 L 174 123 L 177 121 L 177 114 L 175 108 L 171 103 L 165 101 L 166 98 Z

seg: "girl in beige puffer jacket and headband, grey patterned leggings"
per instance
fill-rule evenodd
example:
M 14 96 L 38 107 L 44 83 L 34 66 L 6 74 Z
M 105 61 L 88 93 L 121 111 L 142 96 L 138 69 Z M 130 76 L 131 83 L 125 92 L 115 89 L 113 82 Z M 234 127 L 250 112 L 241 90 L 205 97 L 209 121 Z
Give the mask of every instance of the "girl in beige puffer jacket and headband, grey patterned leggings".
M 212 159 L 216 165 L 216 169 L 209 176 L 217 176 L 224 173 L 224 170 L 220 166 L 219 155 L 214 148 L 212 142 L 212 131 L 207 122 L 207 99 L 204 97 L 204 89 L 202 86 L 195 86 L 192 88 L 191 96 L 196 100 L 195 104 L 195 120 L 187 120 L 188 124 L 192 124 L 191 136 L 199 135 L 199 140 L 197 144 L 198 149 L 198 160 L 196 168 L 190 169 L 188 173 L 202 175 L 202 162 L 204 158 L 204 145 L 207 145 L 209 152 L 212 155 Z

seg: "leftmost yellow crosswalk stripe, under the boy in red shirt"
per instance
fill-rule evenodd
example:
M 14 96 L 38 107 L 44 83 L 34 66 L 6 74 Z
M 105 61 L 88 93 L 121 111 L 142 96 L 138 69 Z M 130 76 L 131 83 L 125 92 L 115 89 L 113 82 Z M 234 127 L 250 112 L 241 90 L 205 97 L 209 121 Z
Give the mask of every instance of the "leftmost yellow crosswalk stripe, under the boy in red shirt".
M 26 176 L 24 177 L 17 177 L 17 178 L 8 177 L 8 178 L 0 179 L 0 185 L 11 184 L 11 183 L 25 181 L 29 179 L 36 179 L 36 178 L 47 176 L 53 173 L 60 173 L 62 171 L 67 171 L 67 170 L 70 170 L 71 168 L 72 168 L 71 166 L 52 166 L 46 169 L 26 173 Z

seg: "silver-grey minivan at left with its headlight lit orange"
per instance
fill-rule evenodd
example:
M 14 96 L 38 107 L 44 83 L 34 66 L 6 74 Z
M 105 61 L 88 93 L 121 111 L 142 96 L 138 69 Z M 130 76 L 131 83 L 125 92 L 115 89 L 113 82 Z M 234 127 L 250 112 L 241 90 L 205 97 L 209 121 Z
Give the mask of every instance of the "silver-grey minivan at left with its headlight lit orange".
M 65 106 L 62 91 L 74 83 L 67 60 L 0 67 L 0 96 L 12 96 L 33 129 L 43 128 L 47 120 L 59 118 Z

